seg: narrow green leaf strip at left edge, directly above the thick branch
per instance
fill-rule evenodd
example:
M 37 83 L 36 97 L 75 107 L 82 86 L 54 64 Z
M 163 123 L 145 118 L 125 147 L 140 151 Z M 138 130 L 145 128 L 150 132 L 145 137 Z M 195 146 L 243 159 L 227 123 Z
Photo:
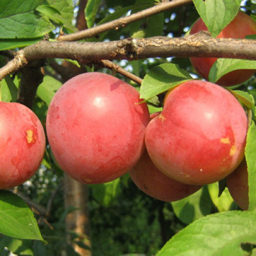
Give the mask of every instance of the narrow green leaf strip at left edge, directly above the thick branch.
M 43 37 L 24 39 L 1 39 L 0 51 L 26 47 L 40 41 Z

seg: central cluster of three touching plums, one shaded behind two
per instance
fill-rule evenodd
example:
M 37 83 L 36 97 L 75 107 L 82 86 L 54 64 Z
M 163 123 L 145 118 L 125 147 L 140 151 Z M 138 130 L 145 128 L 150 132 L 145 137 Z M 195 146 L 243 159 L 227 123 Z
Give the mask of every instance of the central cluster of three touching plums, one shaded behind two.
M 91 72 L 67 81 L 49 106 L 47 136 L 60 167 L 84 184 L 130 173 L 147 195 L 182 199 L 219 181 L 244 157 L 247 116 L 226 89 L 191 80 L 149 115 L 130 84 Z

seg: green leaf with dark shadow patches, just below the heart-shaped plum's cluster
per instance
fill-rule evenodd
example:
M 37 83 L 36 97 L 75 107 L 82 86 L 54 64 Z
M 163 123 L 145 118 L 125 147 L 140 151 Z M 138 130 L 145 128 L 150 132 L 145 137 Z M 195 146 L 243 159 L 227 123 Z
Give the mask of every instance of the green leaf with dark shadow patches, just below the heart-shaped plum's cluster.
M 204 186 L 196 193 L 172 202 L 175 215 L 184 223 L 189 224 L 211 212 L 211 201 L 207 187 Z

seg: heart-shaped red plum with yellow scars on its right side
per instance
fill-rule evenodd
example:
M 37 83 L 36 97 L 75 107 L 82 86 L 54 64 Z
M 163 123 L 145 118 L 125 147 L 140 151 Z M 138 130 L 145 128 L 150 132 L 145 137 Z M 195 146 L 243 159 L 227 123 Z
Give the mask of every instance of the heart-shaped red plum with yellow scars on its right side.
M 169 93 L 161 115 L 148 123 L 147 152 L 168 177 L 186 184 L 219 181 L 242 161 L 247 116 L 217 84 L 190 80 Z

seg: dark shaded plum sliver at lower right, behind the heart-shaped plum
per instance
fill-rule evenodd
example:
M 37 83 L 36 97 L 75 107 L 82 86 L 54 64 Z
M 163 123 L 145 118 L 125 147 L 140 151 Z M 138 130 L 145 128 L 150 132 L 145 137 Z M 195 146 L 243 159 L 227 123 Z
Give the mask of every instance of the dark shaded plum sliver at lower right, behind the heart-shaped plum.
M 227 188 L 234 202 L 243 209 L 249 206 L 248 172 L 245 158 L 241 164 L 226 178 Z

